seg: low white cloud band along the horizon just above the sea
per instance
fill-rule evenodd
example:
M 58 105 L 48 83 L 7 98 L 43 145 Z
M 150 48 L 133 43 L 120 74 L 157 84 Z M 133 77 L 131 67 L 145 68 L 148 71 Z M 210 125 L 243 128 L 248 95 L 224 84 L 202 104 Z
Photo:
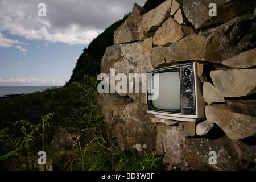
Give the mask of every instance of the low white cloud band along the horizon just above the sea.
M 11 78 L 4 80 L 0 78 L 0 86 L 64 86 L 69 78 L 61 80 L 59 78 L 46 80 L 39 78 Z

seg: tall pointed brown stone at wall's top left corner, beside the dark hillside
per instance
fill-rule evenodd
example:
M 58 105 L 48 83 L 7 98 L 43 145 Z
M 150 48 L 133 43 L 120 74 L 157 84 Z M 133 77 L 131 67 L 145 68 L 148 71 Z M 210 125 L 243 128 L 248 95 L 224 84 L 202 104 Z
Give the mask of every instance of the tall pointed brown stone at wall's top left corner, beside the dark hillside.
M 143 40 L 144 34 L 141 26 L 143 14 L 146 13 L 141 6 L 136 3 L 133 11 L 120 27 L 114 32 L 114 44 L 128 43 L 135 40 Z

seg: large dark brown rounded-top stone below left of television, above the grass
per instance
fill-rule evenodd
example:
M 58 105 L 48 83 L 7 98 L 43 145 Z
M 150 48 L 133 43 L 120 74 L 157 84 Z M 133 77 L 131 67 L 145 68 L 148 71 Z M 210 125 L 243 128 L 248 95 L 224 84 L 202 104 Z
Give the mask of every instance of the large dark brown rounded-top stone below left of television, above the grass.
M 116 131 L 121 150 L 156 151 L 156 124 L 148 117 L 146 105 L 133 102 L 120 107 Z

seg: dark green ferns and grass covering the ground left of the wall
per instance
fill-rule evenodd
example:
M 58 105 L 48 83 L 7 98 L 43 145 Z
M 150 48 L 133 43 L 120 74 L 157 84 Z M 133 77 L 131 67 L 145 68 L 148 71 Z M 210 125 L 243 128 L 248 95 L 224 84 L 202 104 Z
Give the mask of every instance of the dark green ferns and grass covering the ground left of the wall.
M 28 160 L 38 159 L 42 150 L 56 170 L 165 169 L 160 156 L 120 151 L 117 143 L 108 140 L 101 106 L 96 104 L 97 85 L 96 77 L 86 75 L 83 81 L 62 88 L 2 98 L 0 169 L 32 170 Z M 75 140 L 66 151 L 49 147 L 58 126 L 72 131 L 69 139 Z

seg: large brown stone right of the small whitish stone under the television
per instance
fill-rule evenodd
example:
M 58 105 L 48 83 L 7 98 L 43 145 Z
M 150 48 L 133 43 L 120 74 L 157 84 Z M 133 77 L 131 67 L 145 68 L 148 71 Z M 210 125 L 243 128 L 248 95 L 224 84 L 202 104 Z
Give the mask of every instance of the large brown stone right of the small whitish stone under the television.
M 233 140 L 253 136 L 256 132 L 256 118 L 236 113 L 229 105 L 214 104 L 205 106 L 207 122 L 216 123 Z

